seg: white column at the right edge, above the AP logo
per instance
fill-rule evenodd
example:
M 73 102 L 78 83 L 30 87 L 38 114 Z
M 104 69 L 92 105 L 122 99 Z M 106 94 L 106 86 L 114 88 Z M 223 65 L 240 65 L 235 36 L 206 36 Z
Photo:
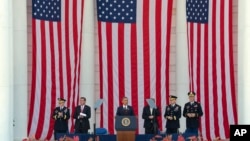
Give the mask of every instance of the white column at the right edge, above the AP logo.
M 248 11 L 248 12 L 247 12 Z M 250 124 L 250 1 L 238 0 L 238 119 Z M 235 40 L 236 41 L 236 40 Z

